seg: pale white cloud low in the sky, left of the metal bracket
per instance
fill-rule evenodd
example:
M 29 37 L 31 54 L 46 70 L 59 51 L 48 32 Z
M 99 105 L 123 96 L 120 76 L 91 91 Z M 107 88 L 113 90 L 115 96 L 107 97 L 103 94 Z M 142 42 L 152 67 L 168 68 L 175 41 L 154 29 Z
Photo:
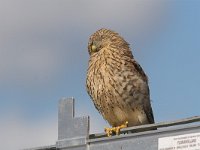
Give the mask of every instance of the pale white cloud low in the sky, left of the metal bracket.
M 1 119 L 0 126 L 1 149 L 54 145 L 57 140 L 57 120 L 52 118 L 27 122 L 15 116 Z

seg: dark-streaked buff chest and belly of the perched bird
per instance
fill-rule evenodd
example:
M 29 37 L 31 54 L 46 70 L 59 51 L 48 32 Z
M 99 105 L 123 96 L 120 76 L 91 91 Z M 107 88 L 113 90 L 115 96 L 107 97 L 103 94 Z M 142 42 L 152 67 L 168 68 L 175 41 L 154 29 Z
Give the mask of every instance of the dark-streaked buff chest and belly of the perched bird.
M 90 60 L 88 88 L 96 108 L 104 115 L 115 107 L 124 110 L 141 105 L 147 84 L 132 68 L 131 61 L 104 54 Z

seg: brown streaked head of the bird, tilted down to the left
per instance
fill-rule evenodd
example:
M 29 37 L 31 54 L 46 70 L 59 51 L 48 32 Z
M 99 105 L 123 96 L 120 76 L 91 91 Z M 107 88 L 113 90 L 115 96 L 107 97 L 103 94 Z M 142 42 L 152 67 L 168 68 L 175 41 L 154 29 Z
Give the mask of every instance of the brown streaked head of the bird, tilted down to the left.
M 88 52 L 92 55 L 111 45 L 120 48 L 120 46 L 128 46 L 129 44 L 118 33 L 102 28 L 90 36 Z

